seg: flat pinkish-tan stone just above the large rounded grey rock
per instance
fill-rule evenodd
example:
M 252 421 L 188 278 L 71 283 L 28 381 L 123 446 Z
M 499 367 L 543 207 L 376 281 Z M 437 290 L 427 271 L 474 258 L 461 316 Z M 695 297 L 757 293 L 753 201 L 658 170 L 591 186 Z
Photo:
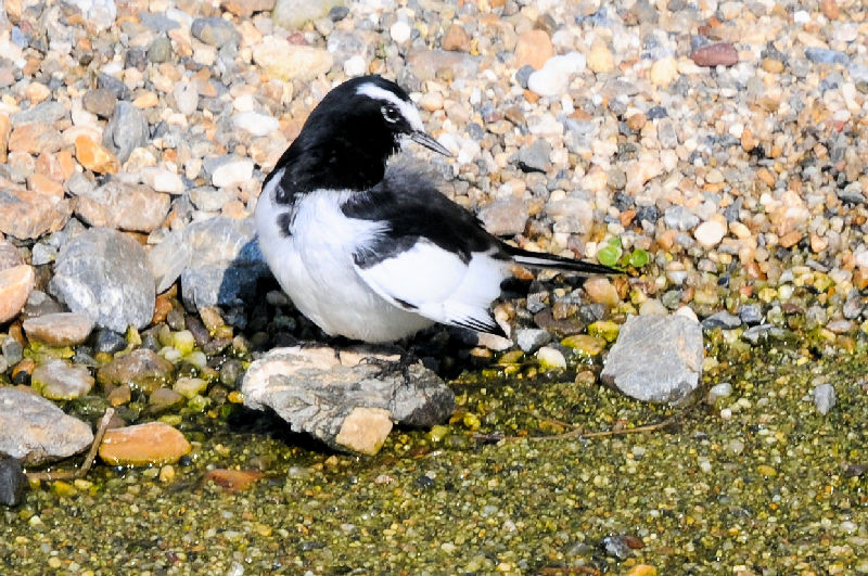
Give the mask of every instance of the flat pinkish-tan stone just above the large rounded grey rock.
M 93 227 L 152 232 L 166 219 L 170 204 L 168 194 L 111 180 L 78 196 L 75 213 Z

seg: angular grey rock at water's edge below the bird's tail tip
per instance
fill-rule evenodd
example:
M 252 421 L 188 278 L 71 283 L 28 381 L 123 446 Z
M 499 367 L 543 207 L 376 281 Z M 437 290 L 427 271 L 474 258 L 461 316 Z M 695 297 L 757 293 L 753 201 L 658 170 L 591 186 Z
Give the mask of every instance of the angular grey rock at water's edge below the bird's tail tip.
M 630 316 L 605 360 L 601 377 L 638 400 L 678 402 L 702 375 L 702 327 L 675 316 Z

